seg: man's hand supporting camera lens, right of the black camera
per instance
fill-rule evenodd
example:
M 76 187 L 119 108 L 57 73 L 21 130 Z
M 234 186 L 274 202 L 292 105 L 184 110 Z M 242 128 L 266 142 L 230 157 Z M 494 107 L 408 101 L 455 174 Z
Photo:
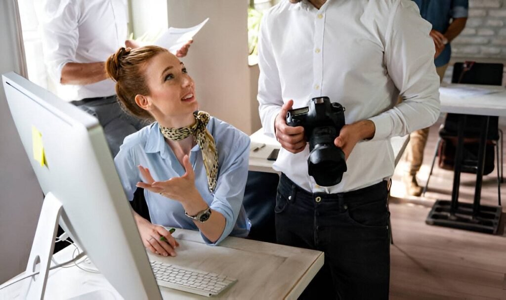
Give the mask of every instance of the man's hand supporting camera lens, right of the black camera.
M 375 132 L 376 126 L 371 120 L 362 120 L 344 125 L 341 128 L 339 137 L 335 138 L 334 145 L 341 148 L 345 153 L 346 159 L 348 159 L 355 145 L 361 140 L 371 139 L 374 137 Z

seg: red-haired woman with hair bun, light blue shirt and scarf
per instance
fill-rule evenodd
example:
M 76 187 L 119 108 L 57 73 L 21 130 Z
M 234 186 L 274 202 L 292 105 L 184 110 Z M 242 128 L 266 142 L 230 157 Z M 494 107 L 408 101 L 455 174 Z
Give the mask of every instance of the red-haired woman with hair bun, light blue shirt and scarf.
M 178 243 L 162 226 L 198 229 L 213 245 L 229 234 L 247 236 L 250 224 L 242 197 L 248 136 L 196 111 L 192 78 L 163 48 L 121 48 L 109 57 L 106 69 L 124 108 L 155 120 L 126 137 L 114 158 L 128 199 L 138 187 L 144 189 L 153 224 L 136 212 L 134 218 L 146 248 L 176 255 Z

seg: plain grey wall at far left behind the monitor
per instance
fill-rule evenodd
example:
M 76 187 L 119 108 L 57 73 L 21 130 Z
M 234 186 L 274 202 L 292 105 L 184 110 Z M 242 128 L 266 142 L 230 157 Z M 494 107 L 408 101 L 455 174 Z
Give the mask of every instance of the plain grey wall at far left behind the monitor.
M 0 73 L 26 77 L 16 0 L 0 1 Z M 0 85 L 0 282 L 26 268 L 42 207 L 40 190 Z

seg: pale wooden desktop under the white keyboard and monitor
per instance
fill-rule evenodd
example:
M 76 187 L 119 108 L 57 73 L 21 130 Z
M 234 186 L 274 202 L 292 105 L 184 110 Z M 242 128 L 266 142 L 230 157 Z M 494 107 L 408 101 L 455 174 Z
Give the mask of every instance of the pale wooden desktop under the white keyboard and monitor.
M 297 299 L 323 266 L 323 252 L 242 238 L 228 237 L 221 246 L 207 246 L 197 231 L 178 229 L 178 256 L 164 258 L 148 253 L 150 258 L 235 277 L 238 281 L 219 295 L 220 299 Z M 73 246 L 56 253 L 64 262 L 72 257 Z M 121 249 L 111 249 L 114 251 Z M 50 271 L 45 298 L 68 299 L 102 289 L 111 298 L 121 299 L 101 274 L 82 271 L 73 266 Z M 23 281 L 0 290 L 0 299 L 20 299 Z M 213 299 L 169 288 L 160 288 L 164 299 Z M 109 299 L 109 297 L 107 298 Z

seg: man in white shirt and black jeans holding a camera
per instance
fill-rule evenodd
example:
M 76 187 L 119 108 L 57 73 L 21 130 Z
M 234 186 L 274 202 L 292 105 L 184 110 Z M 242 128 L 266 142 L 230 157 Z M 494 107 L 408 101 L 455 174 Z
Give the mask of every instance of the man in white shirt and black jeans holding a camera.
M 259 110 L 264 132 L 283 147 L 274 164 L 282 173 L 277 241 L 325 252 L 301 298 L 388 299 L 390 138 L 439 116 L 430 30 L 410 0 L 285 0 L 264 15 Z M 399 94 L 404 101 L 396 105 Z M 345 108 L 346 125 L 319 123 L 336 113 L 316 109 L 325 96 Z M 308 107 L 302 126 L 286 123 L 292 107 Z M 321 148 L 331 132 L 315 130 L 323 125 L 335 128 L 331 141 L 341 154 Z M 340 157 L 346 168 L 325 168 Z M 325 177 L 339 183 L 323 186 Z

